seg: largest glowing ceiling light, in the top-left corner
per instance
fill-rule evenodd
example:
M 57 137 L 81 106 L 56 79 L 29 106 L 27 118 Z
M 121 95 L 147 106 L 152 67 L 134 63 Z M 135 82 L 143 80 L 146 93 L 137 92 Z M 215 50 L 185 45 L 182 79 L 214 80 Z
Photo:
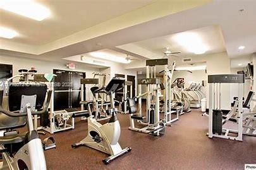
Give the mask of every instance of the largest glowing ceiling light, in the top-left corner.
M 45 6 L 32 0 L 1 0 L 0 8 L 37 21 L 42 21 L 51 14 L 50 10 Z

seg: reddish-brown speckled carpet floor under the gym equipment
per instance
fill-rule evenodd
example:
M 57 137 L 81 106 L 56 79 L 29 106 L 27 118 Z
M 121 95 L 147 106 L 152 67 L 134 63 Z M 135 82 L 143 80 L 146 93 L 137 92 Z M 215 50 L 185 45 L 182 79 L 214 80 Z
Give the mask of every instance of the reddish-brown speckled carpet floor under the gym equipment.
M 125 156 L 104 165 L 107 154 L 89 147 L 71 148 L 87 135 L 87 121 L 77 121 L 75 130 L 55 133 L 57 148 L 45 152 L 48 169 L 244 169 L 256 163 L 256 137 L 243 142 L 209 139 L 208 118 L 193 110 L 180 116 L 161 137 L 128 130 L 129 115 L 118 114 L 121 147 L 131 147 Z

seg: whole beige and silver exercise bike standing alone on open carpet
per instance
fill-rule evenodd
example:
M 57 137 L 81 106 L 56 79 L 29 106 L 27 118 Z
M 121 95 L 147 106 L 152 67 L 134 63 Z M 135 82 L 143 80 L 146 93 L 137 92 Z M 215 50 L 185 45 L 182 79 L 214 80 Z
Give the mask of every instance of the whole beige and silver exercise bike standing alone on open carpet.
M 109 122 L 101 125 L 101 123 L 95 120 L 93 115 L 89 116 L 88 114 L 87 137 L 81 140 L 81 142 L 71 145 L 73 148 L 80 145 L 86 145 L 111 155 L 102 160 L 104 164 L 109 164 L 109 162 L 113 161 L 117 157 L 123 156 L 127 152 L 131 151 L 130 147 L 122 149 L 118 143 L 121 130 L 119 121 L 116 117 L 117 109 L 114 108 L 113 94 L 123 86 L 124 82 L 125 80 L 123 79 L 111 79 L 109 84 L 107 84 L 106 89 L 104 89 L 105 93 L 109 94 L 111 99 L 111 108 L 108 110 L 109 115 L 111 115 Z

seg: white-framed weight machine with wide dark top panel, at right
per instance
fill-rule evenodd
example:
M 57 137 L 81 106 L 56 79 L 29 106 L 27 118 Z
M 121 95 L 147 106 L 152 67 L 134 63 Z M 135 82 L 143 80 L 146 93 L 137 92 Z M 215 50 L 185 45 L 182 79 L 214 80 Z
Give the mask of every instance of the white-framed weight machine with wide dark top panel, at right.
M 245 77 L 241 74 L 219 74 L 209 75 L 209 138 L 219 137 L 222 139 L 243 141 L 243 83 Z M 214 119 L 213 110 L 221 113 L 221 84 L 222 83 L 235 83 L 238 84 L 238 130 L 222 128 L 223 120 Z M 216 102 L 217 101 L 217 102 Z M 226 120 L 227 121 L 227 120 Z M 221 133 L 214 133 L 214 129 L 219 129 Z M 237 133 L 237 136 L 231 136 L 229 133 Z

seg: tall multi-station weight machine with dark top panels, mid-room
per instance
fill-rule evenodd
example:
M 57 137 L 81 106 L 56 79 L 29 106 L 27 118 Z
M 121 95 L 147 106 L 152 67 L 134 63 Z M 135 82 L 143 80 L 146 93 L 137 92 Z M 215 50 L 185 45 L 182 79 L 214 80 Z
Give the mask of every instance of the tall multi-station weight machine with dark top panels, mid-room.
M 128 99 L 128 110 L 130 113 L 130 130 L 137 132 L 149 133 L 152 135 L 160 135 L 164 132 L 165 126 L 170 125 L 171 122 L 171 77 L 172 73 L 168 69 L 168 59 L 154 59 L 146 60 L 147 65 L 147 78 L 138 79 L 138 108 L 140 110 L 137 113 L 137 106 L 134 99 Z M 159 78 L 156 78 L 156 65 L 164 65 L 165 69 L 165 82 L 161 84 Z M 173 65 L 174 67 L 174 65 Z M 142 93 L 142 85 L 147 86 L 147 91 Z M 160 85 L 160 86 L 159 86 Z M 166 85 L 166 87 L 164 86 Z M 160 118 L 160 94 L 161 90 L 165 92 L 165 111 L 164 119 Z M 146 116 L 142 116 L 142 96 L 147 96 L 146 101 Z M 143 128 L 135 127 L 135 120 L 141 125 L 145 125 Z

